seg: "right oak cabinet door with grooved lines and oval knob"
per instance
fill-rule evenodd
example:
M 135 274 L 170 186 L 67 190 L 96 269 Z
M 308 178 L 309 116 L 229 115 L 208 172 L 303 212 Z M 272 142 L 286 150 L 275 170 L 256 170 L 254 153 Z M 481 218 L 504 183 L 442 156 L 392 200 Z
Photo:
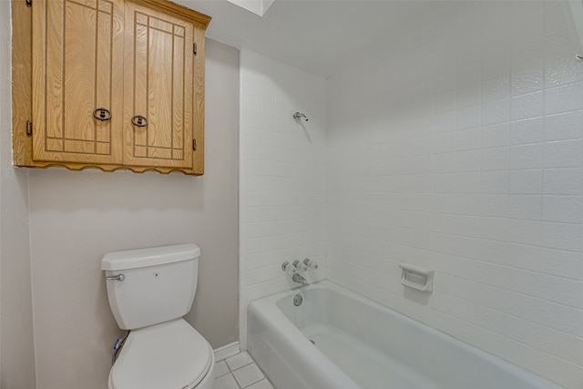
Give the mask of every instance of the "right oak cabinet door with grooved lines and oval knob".
M 124 164 L 192 167 L 191 22 L 126 3 Z

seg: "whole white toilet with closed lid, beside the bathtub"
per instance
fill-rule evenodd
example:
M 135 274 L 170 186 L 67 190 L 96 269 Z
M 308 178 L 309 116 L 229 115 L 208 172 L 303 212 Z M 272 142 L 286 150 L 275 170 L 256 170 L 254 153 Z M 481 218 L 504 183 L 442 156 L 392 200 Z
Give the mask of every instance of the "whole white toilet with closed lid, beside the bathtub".
M 214 353 L 182 316 L 197 289 L 194 244 L 107 253 L 107 297 L 119 328 L 131 330 L 109 372 L 109 389 L 210 389 Z

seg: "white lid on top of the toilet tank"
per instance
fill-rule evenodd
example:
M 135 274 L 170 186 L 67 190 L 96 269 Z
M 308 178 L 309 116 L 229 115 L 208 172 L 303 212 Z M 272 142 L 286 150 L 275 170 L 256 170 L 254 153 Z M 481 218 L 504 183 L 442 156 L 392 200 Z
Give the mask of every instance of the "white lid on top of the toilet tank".
M 175 244 L 148 249 L 108 252 L 101 260 L 102 271 L 121 271 L 163 265 L 165 263 L 188 261 L 199 258 L 200 249 L 196 244 Z

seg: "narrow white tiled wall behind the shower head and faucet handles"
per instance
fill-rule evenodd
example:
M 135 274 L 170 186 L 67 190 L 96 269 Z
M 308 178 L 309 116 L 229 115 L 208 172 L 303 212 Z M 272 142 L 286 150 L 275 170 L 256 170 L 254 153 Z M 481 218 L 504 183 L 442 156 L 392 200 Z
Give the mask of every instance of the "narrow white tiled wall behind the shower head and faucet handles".
M 240 52 L 240 342 L 247 302 L 289 289 L 283 261 L 324 261 L 325 80 Z M 293 113 L 309 121 L 296 122 Z M 321 270 L 305 274 L 312 280 Z

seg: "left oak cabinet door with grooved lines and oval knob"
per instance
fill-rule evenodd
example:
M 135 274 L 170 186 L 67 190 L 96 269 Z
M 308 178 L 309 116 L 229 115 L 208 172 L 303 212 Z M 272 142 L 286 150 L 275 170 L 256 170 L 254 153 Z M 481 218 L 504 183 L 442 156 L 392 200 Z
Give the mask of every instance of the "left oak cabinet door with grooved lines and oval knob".
M 123 17 L 118 0 L 35 2 L 33 159 L 121 163 Z

